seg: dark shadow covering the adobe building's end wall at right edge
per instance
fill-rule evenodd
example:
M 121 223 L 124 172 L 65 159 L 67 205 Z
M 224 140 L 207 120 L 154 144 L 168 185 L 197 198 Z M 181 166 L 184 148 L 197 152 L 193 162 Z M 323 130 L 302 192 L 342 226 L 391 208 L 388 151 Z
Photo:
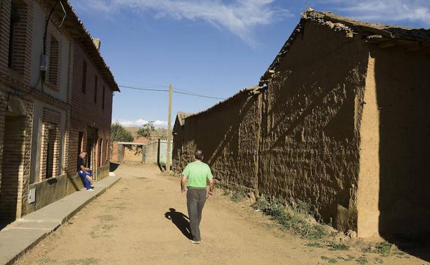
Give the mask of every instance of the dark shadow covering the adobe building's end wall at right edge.
M 422 68 L 430 60 L 400 46 L 374 49 L 371 56 L 380 110 L 378 230 L 430 262 L 430 90 Z

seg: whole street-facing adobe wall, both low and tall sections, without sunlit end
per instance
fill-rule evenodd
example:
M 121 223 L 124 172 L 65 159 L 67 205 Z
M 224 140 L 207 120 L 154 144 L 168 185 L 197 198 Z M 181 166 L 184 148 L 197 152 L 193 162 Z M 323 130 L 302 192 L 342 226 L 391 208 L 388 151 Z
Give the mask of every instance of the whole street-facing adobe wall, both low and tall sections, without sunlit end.
M 356 231 L 368 56 L 364 42 L 344 30 L 305 23 L 267 92 L 234 96 L 175 127 L 174 168 L 203 149 L 222 183 L 302 200 L 317 218 Z

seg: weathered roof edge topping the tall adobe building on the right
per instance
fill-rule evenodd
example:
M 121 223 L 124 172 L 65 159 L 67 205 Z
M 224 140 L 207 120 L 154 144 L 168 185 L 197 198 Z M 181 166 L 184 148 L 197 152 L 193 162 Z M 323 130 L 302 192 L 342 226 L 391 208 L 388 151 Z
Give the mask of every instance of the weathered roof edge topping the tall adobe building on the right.
M 343 31 L 349 37 L 360 34 L 368 43 L 387 42 L 390 45 L 400 43 L 404 45 L 414 44 L 414 46 L 411 47 L 412 50 L 420 49 L 420 47 L 430 47 L 430 30 L 426 29 L 413 29 L 397 25 L 357 21 L 331 12 L 321 12 L 311 8 L 305 10 L 301 17 L 300 22 L 289 36 L 280 52 L 275 57 L 265 74 L 261 77 L 260 85 L 265 83 L 267 79 L 274 74 L 276 66 L 279 65 L 283 56 L 287 54 L 289 48 L 294 42 L 294 39 L 296 39 L 296 36 L 303 32 L 303 26 L 308 21 L 329 26 L 334 31 Z

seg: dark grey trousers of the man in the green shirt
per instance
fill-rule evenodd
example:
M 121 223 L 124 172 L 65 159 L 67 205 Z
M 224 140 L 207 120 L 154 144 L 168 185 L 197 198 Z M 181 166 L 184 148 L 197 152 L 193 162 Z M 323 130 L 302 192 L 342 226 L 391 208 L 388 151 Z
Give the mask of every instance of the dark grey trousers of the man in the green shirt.
M 187 208 L 188 216 L 190 217 L 191 234 L 194 241 L 201 241 L 200 236 L 200 221 L 203 206 L 206 202 L 206 188 L 188 187 L 187 191 Z

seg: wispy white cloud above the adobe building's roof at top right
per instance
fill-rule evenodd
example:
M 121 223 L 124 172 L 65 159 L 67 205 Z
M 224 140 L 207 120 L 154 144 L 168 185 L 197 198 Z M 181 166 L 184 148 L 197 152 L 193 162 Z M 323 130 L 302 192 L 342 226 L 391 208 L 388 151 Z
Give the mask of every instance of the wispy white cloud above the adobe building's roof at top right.
M 337 10 L 365 21 L 411 21 L 430 25 L 429 0 L 320 0 L 337 4 Z

